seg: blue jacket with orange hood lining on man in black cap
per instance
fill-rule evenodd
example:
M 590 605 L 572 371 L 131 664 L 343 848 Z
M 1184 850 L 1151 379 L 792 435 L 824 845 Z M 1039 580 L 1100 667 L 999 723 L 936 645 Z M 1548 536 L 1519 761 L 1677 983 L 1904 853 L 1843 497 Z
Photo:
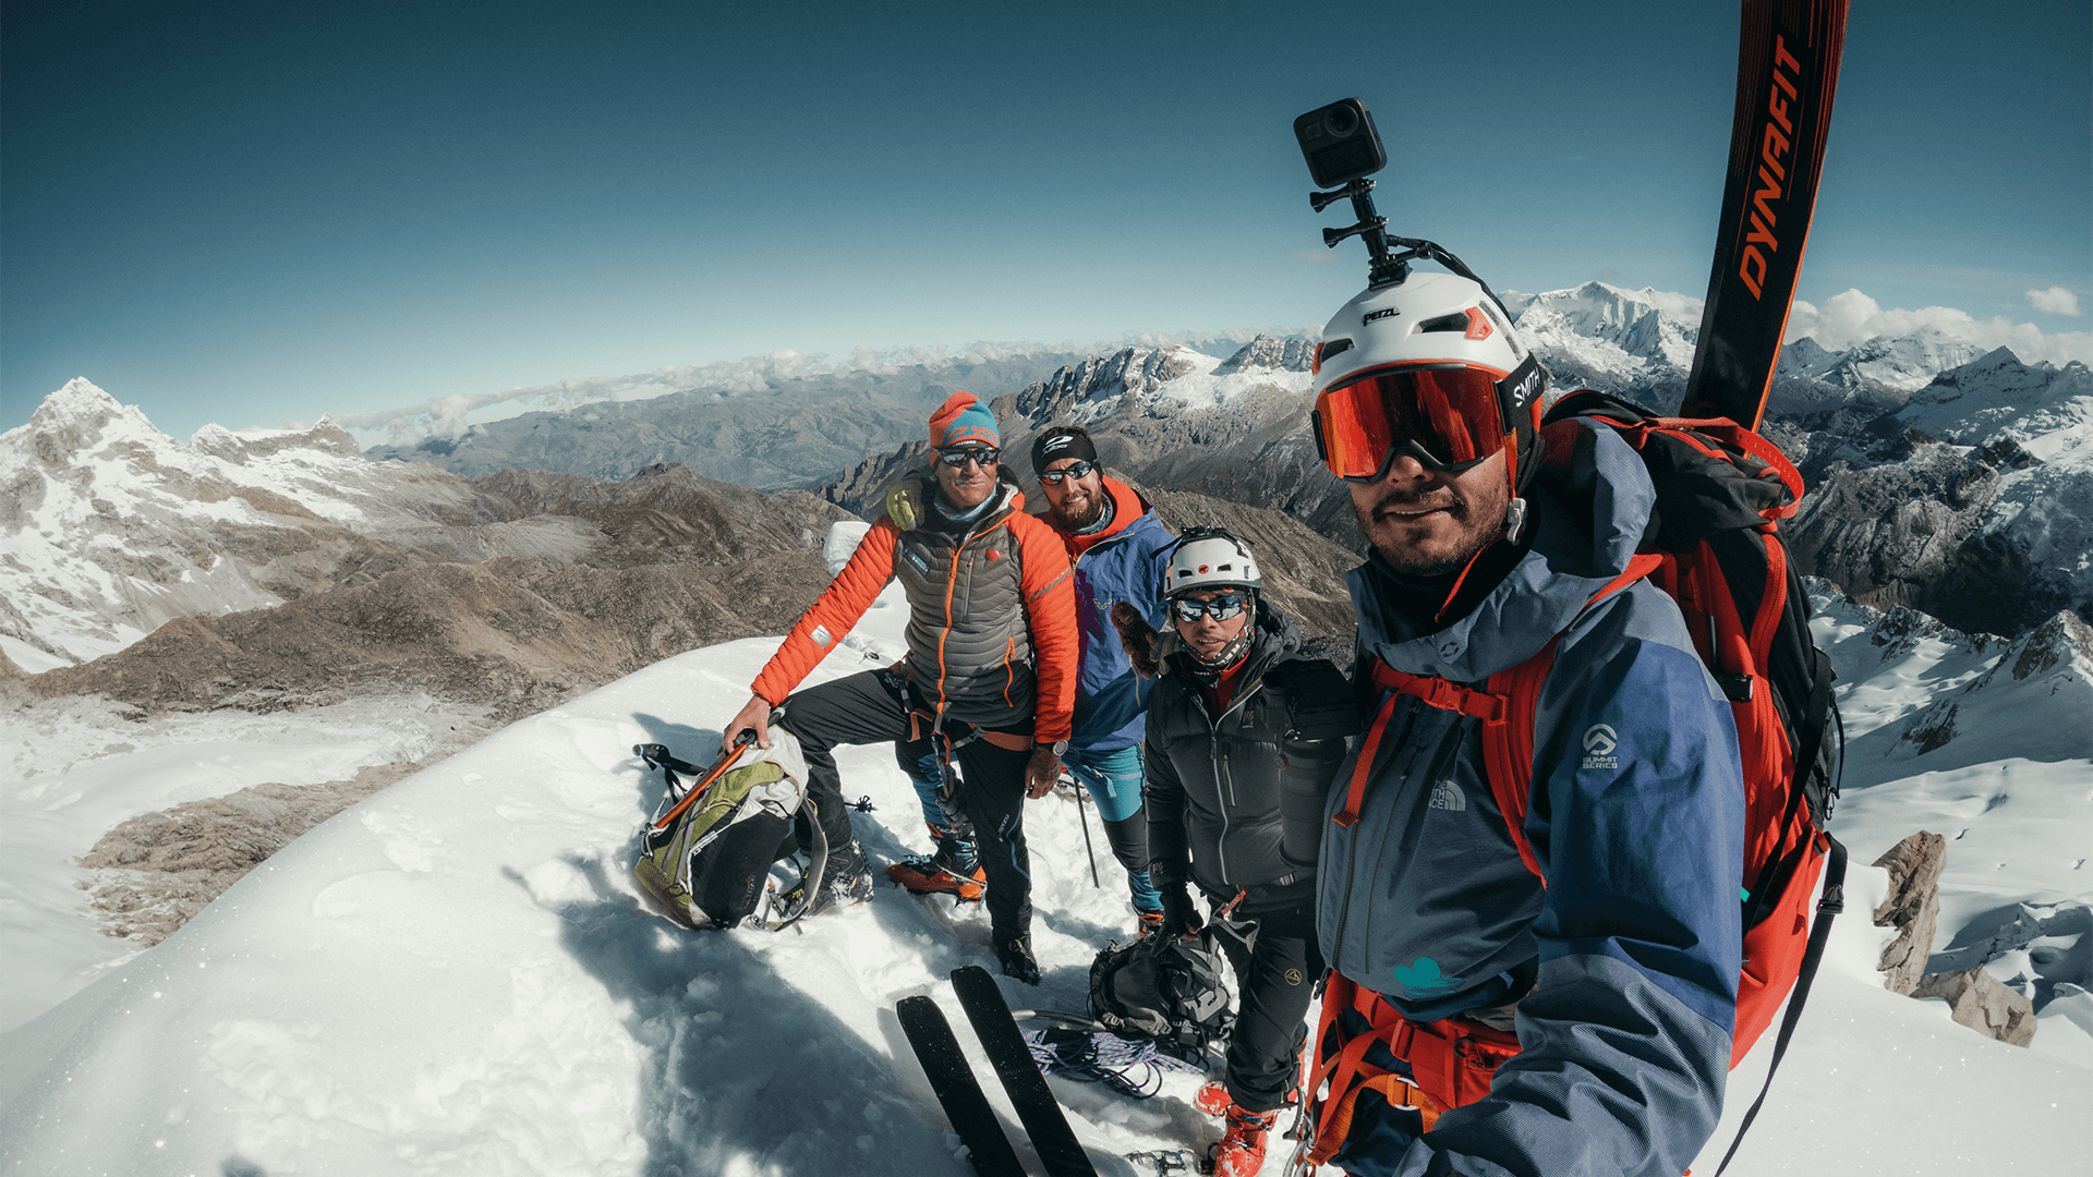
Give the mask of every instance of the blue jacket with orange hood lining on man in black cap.
M 1111 494 L 1116 513 L 1103 536 L 1061 534 L 1076 561 L 1076 630 L 1082 647 L 1070 743 L 1086 752 L 1141 743 L 1153 683 L 1143 683 L 1126 660 L 1120 630 L 1111 626 L 1111 605 L 1130 601 L 1151 626 L 1164 628 L 1157 553 L 1176 542 L 1134 488 L 1105 478 L 1105 494 Z

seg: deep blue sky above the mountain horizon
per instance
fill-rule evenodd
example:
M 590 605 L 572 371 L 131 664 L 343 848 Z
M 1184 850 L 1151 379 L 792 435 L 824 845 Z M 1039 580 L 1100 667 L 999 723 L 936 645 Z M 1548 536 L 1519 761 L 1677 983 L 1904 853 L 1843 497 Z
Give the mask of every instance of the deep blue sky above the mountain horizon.
M 1321 323 L 1293 115 L 1398 232 L 1700 295 L 1731 4 L 6 0 L 0 427 L 188 436 L 777 348 Z M 2085 331 L 2093 15 L 1856 4 L 1802 299 Z

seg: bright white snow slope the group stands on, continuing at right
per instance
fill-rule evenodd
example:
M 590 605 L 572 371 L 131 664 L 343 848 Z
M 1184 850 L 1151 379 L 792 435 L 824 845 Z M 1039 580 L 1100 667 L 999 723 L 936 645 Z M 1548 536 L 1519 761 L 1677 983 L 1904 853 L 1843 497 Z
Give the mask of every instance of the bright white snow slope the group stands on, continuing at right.
M 883 662 L 902 620 L 890 595 L 816 674 Z M 1852 626 L 1831 635 L 1848 685 L 1848 668 L 1884 653 L 1861 620 L 1831 622 Z M 697 649 L 511 725 L 335 817 L 157 949 L 0 1037 L 0 1173 L 969 1173 L 892 1009 L 929 993 L 963 1026 L 944 978 L 994 965 L 984 913 L 881 888 L 804 934 L 693 934 L 634 901 L 634 827 L 659 783 L 630 746 L 701 756 L 774 645 Z M 1909 683 L 1877 685 L 1875 727 L 1986 662 L 1953 637 L 1892 651 L 1873 676 Z M 2003 754 L 2013 733 L 1982 739 Z M 854 817 L 873 861 L 927 848 L 892 752 L 837 758 L 846 792 L 875 804 Z M 2018 850 L 2043 863 L 2083 854 L 2089 762 L 2013 771 L 2013 804 L 2049 815 L 2011 827 Z M 1856 863 L 1926 819 L 1896 813 L 1905 794 L 1880 781 L 1848 798 L 1842 817 L 1865 819 L 1842 827 Z M 1997 813 L 1963 806 L 1959 819 L 1982 831 Z M 1032 802 L 1028 819 L 1046 980 L 1005 993 L 1082 1007 L 1093 953 L 1128 934 L 1126 896 L 1109 859 L 1105 888 L 1090 886 L 1070 802 Z M 1993 882 L 1995 898 L 2036 898 L 2022 875 L 1986 871 L 1951 848 L 1957 888 Z M 1884 930 L 1865 919 L 1884 890 L 1882 871 L 1854 867 L 1804 1032 L 1737 1173 L 2083 1167 L 2093 1070 L 1886 993 L 1873 974 Z M 2047 1018 L 2036 1041 L 2070 1028 Z M 1725 1129 L 1695 1169 L 1712 1171 L 1727 1148 L 1764 1053 L 1739 1068 Z M 1187 1102 L 1193 1085 L 1170 1076 L 1145 1104 L 1061 1081 L 1055 1091 L 1099 1171 L 1130 1175 L 1126 1152 L 1218 1137 Z M 990 1102 L 1015 1131 L 994 1083 Z

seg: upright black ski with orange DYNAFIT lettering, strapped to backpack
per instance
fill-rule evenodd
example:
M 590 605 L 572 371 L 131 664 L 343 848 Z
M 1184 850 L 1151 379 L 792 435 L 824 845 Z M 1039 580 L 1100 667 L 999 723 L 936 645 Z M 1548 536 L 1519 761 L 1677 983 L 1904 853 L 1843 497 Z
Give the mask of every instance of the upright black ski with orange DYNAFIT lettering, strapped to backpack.
M 1817 209 L 1846 0 L 1743 0 L 1714 270 L 1681 417 L 1756 429 Z

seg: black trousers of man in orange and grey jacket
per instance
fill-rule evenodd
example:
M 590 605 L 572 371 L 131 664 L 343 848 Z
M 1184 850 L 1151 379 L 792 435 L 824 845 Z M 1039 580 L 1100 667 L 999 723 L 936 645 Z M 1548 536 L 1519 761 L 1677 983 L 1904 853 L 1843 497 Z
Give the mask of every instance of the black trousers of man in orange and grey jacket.
M 843 808 L 843 781 L 829 752 L 839 743 L 898 746 L 896 758 L 910 762 L 933 748 L 925 723 L 915 741 L 908 739 L 906 681 L 892 670 L 867 670 L 785 699 L 781 727 L 800 739 L 806 756 L 806 792 L 814 804 L 829 846 L 850 842 L 850 813 Z M 967 725 L 946 720 L 954 741 L 971 735 Z M 982 842 L 982 869 L 988 873 L 988 921 L 998 940 L 1023 936 L 1032 928 L 1032 854 L 1026 850 L 1026 764 L 1028 750 L 996 748 L 986 739 L 963 743 L 959 760 L 959 796 Z

